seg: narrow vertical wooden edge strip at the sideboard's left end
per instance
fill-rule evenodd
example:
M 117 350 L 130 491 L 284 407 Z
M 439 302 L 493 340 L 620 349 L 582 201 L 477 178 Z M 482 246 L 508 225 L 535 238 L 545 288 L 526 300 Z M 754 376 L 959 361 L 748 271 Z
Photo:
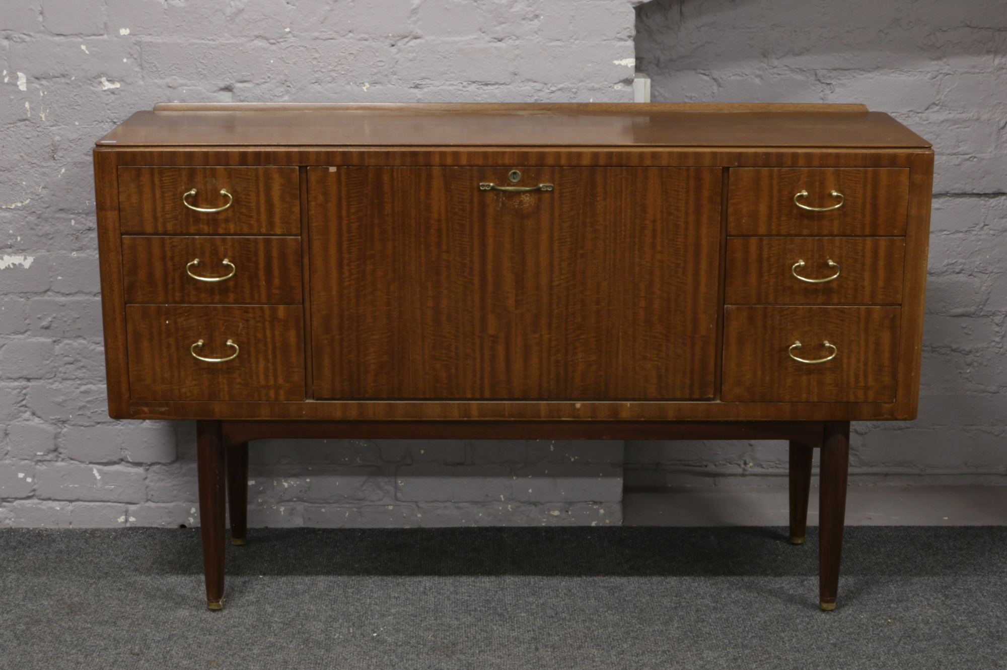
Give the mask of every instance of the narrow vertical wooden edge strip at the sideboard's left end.
M 122 239 L 119 234 L 119 181 L 116 153 L 95 149 L 95 209 L 98 215 L 98 255 L 102 278 L 102 320 L 105 333 L 105 377 L 109 416 L 129 418 L 129 367 L 126 317 L 123 312 Z

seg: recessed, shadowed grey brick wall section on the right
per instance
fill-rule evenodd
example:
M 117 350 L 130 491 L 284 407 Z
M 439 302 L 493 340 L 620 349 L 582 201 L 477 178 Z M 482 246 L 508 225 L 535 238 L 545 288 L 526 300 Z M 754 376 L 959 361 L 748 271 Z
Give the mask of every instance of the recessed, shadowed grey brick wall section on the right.
M 1007 483 L 1007 5 L 655 0 L 635 40 L 655 102 L 865 103 L 933 143 L 919 417 L 855 423 L 851 472 Z M 627 485 L 784 485 L 785 466 L 785 443 L 626 444 Z

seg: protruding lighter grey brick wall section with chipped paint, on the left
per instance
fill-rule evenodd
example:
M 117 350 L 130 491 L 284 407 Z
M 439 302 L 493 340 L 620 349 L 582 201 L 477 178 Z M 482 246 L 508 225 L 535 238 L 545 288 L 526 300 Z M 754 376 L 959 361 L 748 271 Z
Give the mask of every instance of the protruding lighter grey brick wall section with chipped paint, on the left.
M 630 102 L 633 4 L 0 0 L 0 527 L 198 524 L 192 424 L 108 417 L 96 139 L 172 100 Z M 258 442 L 251 522 L 618 524 L 622 447 Z

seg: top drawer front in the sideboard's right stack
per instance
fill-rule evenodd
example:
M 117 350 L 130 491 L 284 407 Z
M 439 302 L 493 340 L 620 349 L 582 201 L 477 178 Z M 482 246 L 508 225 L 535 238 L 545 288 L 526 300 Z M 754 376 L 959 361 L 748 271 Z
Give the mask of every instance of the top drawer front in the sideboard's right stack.
M 734 167 L 727 234 L 905 235 L 908 199 L 902 167 Z

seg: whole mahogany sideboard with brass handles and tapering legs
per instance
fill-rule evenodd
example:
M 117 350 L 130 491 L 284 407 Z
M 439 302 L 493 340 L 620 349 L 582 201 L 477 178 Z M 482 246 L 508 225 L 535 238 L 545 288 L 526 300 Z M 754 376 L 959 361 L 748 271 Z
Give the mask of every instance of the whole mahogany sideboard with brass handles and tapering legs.
M 263 437 L 821 448 L 916 414 L 933 152 L 860 105 L 160 104 L 94 152 L 109 408 L 196 419 L 206 598 Z

